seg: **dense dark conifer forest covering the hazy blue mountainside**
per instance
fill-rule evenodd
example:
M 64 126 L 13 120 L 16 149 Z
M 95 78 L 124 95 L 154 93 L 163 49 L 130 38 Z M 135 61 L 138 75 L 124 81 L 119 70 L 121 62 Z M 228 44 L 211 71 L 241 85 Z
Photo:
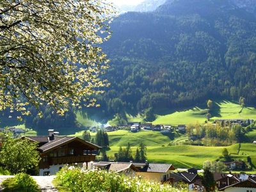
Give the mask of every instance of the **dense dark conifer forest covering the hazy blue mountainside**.
M 244 8 L 245 2 L 253 6 Z M 107 120 L 116 114 L 125 119 L 124 111 L 195 106 L 207 99 L 244 97 L 255 105 L 255 7 L 253 1 L 169 0 L 154 12 L 120 15 L 103 47 L 111 60 L 105 75 L 111 86 L 95 95 L 100 108 L 83 110 Z M 79 126 L 72 111 L 65 117 L 48 108 L 44 113 L 40 120 L 33 111 L 26 124 Z

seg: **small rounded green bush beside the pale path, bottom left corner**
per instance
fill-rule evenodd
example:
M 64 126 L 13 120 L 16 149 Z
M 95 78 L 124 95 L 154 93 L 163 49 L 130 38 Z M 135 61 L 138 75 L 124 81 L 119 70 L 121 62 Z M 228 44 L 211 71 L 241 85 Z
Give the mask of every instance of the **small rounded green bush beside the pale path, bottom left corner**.
M 40 188 L 35 180 L 26 173 L 19 173 L 10 179 L 3 181 L 4 190 L 6 192 L 38 192 Z

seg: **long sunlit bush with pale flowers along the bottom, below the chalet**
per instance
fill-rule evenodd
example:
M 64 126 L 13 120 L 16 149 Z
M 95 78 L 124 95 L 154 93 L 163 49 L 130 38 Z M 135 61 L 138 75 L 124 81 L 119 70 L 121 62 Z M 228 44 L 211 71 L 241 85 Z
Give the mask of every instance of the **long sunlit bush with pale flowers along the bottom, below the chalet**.
M 160 184 L 144 180 L 141 177 L 128 177 L 105 170 L 83 170 L 75 167 L 62 168 L 56 175 L 55 183 L 66 188 L 66 191 L 180 191 L 180 189 L 172 188 L 169 184 Z M 185 191 L 185 189 L 182 190 Z

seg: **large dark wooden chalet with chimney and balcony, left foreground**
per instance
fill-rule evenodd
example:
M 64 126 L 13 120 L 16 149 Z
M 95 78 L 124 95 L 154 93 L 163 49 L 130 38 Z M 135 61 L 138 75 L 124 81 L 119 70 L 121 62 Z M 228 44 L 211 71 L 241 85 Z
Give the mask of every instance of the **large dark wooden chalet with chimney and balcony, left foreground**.
M 38 143 L 41 160 L 39 175 L 54 175 L 67 164 L 88 167 L 88 162 L 95 161 L 95 152 L 101 147 L 77 137 L 58 136 L 58 132 L 49 129 L 49 136 L 23 136 Z

